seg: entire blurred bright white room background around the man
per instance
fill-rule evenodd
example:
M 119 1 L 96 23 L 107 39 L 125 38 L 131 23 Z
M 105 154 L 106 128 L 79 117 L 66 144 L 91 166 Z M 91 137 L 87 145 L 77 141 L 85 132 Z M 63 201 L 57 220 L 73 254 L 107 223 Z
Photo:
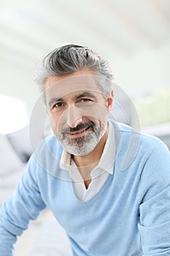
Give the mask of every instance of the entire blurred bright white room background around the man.
M 33 140 L 37 144 L 42 139 L 44 109 L 39 105 L 33 111 L 42 57 L 70 43 L 88 46 L 109 60 L 129 115 L 123 120 L 115 105 L 113 116 L 131 124 L 130 98 L 142 132 L 158 136 L 170 148 L 169 0 L 0 0 L 0 206 L 31 155 L 28 124 L 33 112 Z M 35 241 L 38 248 L 47 245 L 42 238 L 49 236 L 49 223 L 43 229 L 43 222 L 23 236 L 17 256 L 39 255 Z

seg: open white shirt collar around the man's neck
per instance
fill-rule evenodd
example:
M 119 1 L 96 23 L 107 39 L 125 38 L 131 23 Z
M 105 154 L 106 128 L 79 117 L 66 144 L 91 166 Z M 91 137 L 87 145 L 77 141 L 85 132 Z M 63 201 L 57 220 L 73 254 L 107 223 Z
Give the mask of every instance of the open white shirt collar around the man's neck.
M 111 121 L 109 121 L 108 129 L 108 137 L 104 146 L 104 151 L 101 155 L 101 159 L 98 162 L 98 165 L 92 171 L 91 176 L 96 176 L 98 169 L 100 169 L 101 172 L 107 171 L 108 173 L 113 174 L 113 166 L 115 162 L 115 128 Z M 72 161 L 72 165 L 70 165 L 70 159 L 71 154 L 63 150 L 61 155 L 60 168 L 63 170 L 72 171 L 76 165 L 74 161 Z

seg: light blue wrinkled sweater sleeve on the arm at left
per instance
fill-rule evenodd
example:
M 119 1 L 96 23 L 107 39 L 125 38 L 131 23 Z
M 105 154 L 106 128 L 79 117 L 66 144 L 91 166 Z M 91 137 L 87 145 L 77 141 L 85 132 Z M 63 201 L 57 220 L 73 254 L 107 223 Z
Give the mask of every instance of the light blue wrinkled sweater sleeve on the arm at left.
M 0 255 L 12 256 L 17 236 L 36 219 L 45 208 L 36 181 L 36 159 L 31 157 L 14 194 L 4 202 L 0 210 Z

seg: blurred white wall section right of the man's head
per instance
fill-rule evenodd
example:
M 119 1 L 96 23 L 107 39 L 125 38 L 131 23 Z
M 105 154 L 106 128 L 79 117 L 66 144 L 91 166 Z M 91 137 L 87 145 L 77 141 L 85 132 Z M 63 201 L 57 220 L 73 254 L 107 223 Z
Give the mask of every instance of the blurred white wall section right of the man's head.
M 146 49 L 125 59 L 112 59 L 115 82 L 130 96 L 170 88 L 170 42 L 161 48 Z

